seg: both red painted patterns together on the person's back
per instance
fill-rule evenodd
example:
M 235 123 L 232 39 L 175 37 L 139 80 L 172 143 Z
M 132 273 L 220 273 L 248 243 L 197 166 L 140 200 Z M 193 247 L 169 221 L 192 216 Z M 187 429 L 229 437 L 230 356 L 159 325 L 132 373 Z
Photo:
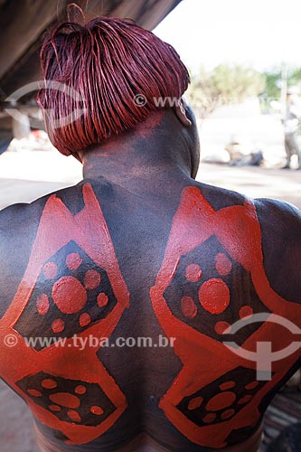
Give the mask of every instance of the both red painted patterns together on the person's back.
M 99 361 L 97 353 L 101 345 L 81 350 L 72 346 L 67 333 L 72 319 L 72 328 L 74 332 L 78 329 L 80 338 L 88 338 L 89 334 L 109 338 L 129 306 L 127 285 L 118 267 L 108 226 L 89 184 L 83 186 L 83 200 L 84 208 L 75 216 L 55 195 L 46 202 L 24 278 L 11 306 L 0 319 L 0 363 L 4 363 L 0 366 L 1 377 L 24 398 L 36 419 L 60 430 L 69 444 L 84 444 L 99 438 L 127 408 L 126 396 L 114 375 Z M 210 275 L 206 273 L 208 253 L 203 262 L 202 259 L 189 262 L 183 271 L 181 297 L 173 300 L 174 305 L 179 304 L 180 319 L 168 305 L 165 291 L 172 285 L 183 257 L 212 237 L 218 240 L 222 251 L 212 249 Z M 80 250 L 68 251 L 62 260 L 58 259 L 57 265 L 53 257 L 71 242 Z M 80 280 L 77 272 L 83 263 L 83 253 L 92 261 L 93 268 L 85 269 Z M 62 265 L 67 268 L 63 276 Z M 230 286 L 225 278 L 232 278 L 231 272 L 237 272 L 238 266 L 249 274 L 267 312 L 300 324 L 300 305 L 278 296 L 269 285 L 253 203 L 246 201 L 243 206 L 215 212 L 198 188 L 185 188 L 150 297 L 165 335 L 175 338 L 174 353 L 183 364 L 162 395 L 160 408 L 183 436 L 202 447 L 226 447 L 231 432 L 255 427 L 260 417 L 260 402 L 286 375 L 297 357 L 296 352 L 272 363 L 271 381 L 256 381 L 256 363 L 240 358 L 222 344 L 222 333 L 230 323 L 220 315 L 234 309 L 231 290 L 236 289 L 235 281 Z M 96 320 L 89 311 L 87 294 L 94 294 L 93 309 L 99 309 L 99 313 L 107 309 L 112 297 L 109 287 L 102 287 L 106 275 L 101 269 L 108 275 L 117 302 L 108 315 Z M 42 292 L 34 298 L 41 275 Z M 47 288 L 48 283 L 52 290 Z M 186 295 L 185 287 L 189 290 L 194 287 L 194 295 L 193 292 Z M 67 338 L 64 347 L 50 345 L 37 350 L 26 346 L 19 332 L 20 322 L 33 298 L 33 309 L 44 325 L 55 306 L 52 333 Z M 247 301 L 242 300 L 237 307 L 237 319 L 256 314 L 255 305 L 249 306 Z M 204 321 L 205 315 L 210 316 L 210 322 Z M 201 331 L 190 325 L 198 319 Z M 202 327 L 209 323 L 217 338 L 202 333 Z M 6 334 L 17 337 L 15 347 L 5 347 Z M 277 325 L 265 323 L 249 334 L 241 346 L 255 350 L 258 342 L 270 337 L 276 350 L 284 348 L 285 341 L 290 340 L 289 334 L 286 337 L 278 334 Z M 238 391 L 238 383 L 242 391 Z M 102 406 L 99 400 L 106 403 Z

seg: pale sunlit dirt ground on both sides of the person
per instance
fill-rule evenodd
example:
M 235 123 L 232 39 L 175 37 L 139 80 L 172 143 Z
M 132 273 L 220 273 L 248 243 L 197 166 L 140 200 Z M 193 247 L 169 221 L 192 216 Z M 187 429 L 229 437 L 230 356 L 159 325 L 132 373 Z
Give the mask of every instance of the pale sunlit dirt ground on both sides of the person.
M 80 180 L 79 164 L 58 153 L 37 151 L 26 158 L 19 153 L 5 154 L 0 156 L 0 208 L 14 202 L 31 202 L 42 194 Z M 34 162 L 34 168 L 31 162 Z M 206 184 L 220 185 L 251 197 L 293 202 L 301 208 L 301 171 L 202 164 L 197 178 Z M 31 414 L 24 402 L 2 381 L 0 420 L 1 452 L 37 452 Z

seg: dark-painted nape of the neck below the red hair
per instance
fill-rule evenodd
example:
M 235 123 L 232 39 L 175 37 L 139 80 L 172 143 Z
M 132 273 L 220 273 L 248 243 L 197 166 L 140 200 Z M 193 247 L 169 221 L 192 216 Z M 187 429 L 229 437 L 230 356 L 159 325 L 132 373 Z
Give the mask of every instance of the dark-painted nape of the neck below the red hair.
M 187 180 L 192 174 L 190 151 L 176 121 L 169 113 L 155 113 L 130 132 L 81 153 L 84 178 L 105 177 L 146 192 Z

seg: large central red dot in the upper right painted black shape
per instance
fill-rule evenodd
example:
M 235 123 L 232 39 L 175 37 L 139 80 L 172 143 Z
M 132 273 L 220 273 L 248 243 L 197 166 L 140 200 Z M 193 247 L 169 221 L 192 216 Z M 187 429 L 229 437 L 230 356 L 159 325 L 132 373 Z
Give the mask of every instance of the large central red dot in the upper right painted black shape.
M 199 289 L 202 307 L 211 314 L 221 314 L 230 304 L 229 288 L 222 279 L 209 279 Z

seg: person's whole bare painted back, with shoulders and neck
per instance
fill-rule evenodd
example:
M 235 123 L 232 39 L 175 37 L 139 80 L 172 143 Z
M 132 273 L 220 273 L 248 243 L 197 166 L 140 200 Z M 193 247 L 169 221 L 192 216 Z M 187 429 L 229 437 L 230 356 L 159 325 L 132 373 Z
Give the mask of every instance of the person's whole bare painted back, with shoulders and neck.
M 299 352 L 261 381 L 222 328 L 252 313 L 301 327 L 300 212 L 196 182 L 188 108 L 74 156 L 80 184 L 0 214 L 0 376 L 33 411 L 41 450 L 255 452 Z M 235 340 L 292 342 L 261 324 Z M 74 334 L 175 342 L 80 350 Z M 24 344 L 40 336 L 69 342 Z

